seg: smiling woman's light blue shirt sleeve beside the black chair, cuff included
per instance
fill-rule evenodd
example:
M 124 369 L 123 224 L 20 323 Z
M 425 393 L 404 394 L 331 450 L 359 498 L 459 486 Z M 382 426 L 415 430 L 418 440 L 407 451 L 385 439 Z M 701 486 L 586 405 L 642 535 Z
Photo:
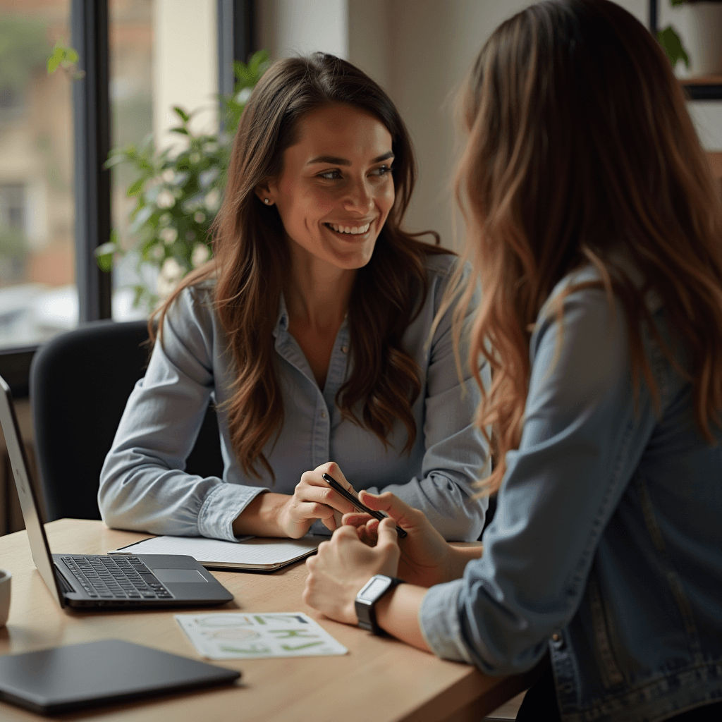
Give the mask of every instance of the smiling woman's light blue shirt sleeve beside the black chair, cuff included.
M 186 289 L 165 317 L 100 474 L 108 526 L 232 541 L 233 520 L 265 491 L 184 471 L 213 391 L 209 313 L 203 292 Z

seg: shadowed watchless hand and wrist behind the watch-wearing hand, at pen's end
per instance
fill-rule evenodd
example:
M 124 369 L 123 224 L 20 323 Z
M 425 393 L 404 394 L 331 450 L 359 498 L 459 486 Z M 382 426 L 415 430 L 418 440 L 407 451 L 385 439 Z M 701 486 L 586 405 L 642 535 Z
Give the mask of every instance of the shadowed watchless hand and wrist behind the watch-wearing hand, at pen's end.
M 359 498 L 368 508 L 386 512 L 408 534 L 406 539 L 399 539 L 398 576 L 406 582 L 430 587 L 451 581 L 464 573 L 469 558 L 481 554 L 479 547 L 464 551 L 452 547 L 434 529 L 425 513 L 410 507 L 391 492 L 380 495 L 361 492 Z M 357 536 L 365 544 L 378 543 L 380 522 L 376 519 L 353 512 L 346 514 L 343 521 L 357 528 Z

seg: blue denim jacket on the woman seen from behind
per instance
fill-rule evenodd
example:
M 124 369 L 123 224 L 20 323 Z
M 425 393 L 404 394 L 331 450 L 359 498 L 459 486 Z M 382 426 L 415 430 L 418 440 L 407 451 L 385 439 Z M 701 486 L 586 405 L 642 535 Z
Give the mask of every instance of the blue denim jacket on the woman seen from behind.
M 490 674 L 548 649 L 565 721 L 658 721 L 722 700 L 722 449 L 648 335 L 661 407 L 642 382 L 635 408 L 626 321 L 604 292 L 573 292 L 562 326 L 548 310 L 484 555 L 428 591 L 425 638 Z

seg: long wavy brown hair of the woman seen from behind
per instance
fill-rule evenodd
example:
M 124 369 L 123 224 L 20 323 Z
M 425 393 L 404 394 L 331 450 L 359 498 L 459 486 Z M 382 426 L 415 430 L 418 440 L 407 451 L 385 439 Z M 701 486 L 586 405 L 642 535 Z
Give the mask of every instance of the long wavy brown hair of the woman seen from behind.
M 484 489 L 497 490 L 505 455 L 521 439 L 536 318 L 554 285 L 585 264 L 602 279 L 591 285 L 610 302 L 616 295 L 627 317 L 635 399 L 643 379 L 658 409 L 646 328 L 692 383 L 697 426 L 713 443 L 722 409 L 722 203 L 656 40 L 607 0 L 534 4 L 484 45 L 460 108 L 469 140 L 456 198 L 475 274 L 456 318 L 481 282 L 471 366 L 479 385 L 480 360 L 492 369 L 477 422 L 492 427 L 495 458 Z M 615 260 L 620 249 L 643 287 Z M 689 349 L 689 371 L 656 331 L 644 303 L 650 290 Z

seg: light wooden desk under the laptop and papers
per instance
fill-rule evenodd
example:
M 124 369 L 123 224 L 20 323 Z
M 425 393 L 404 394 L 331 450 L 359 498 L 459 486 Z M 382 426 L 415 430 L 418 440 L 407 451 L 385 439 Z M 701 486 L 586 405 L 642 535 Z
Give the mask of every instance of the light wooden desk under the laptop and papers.
M 144 535 L 108 529 L 100 521 L 61 519 L 45 525 L 53 553 L 105 554 Z M 146 535 L 147 536 L 147 535 Z M 10 617 L 0 629 L 0 654 L 120 638 L 199 658 L 176 612 L 70 612 L 56 606 L 32 564 L 25 531 L 0 537 L 0 566 L 12 572 Z M 478 722 L 525 690 L 534 673 L 486 677 L 465 664 L 443 661 L 390 638 L 321 617 L 303 604 L 303 562 L 272 575 L 215 572 L 235 600 L 220 611 L 306 612 L 349 649 L 343 657 L 224 660 L 240 669 L 235 687 L 162 697 L 142 703 L 60 716 L 59 719 L 183 722 Z M 202 611 L 202 610 L 201 610 Z M 210 610 L 209 610 L 210 611 Z M 0 703 L 3 721 L 44 719 Z

